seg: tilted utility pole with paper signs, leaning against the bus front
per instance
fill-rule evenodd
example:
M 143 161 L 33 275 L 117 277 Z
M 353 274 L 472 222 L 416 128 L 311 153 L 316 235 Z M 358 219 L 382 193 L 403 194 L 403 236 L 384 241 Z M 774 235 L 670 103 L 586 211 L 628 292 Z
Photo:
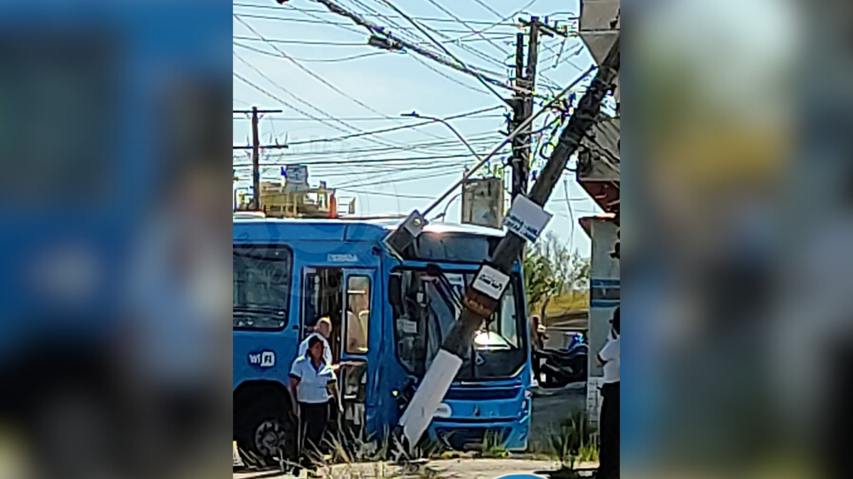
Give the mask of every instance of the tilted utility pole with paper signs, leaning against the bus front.
M 612 90 L 619 69 L 619 38 L 601 62 L 598 72 L 583 95 L 577 109 L 569 119 L 566 128 L 560 133 L 560 141 L 551 153 L 548 162 L 543 167 L 537 182 L 531 188 L 530 194 L 519 195 L 513 201 L 512 215 L 516 204 L 519 210 L 526 214 L 543 215 L 543 205 L 554 190 L 554 186 L 566 167 L 566 161 L 577 151 L 581 140 L 589 133 L 601 111 L 601 101 L 608 91 Z M 523 207 L 523 208 L 522 208 Z M 547 215 L 547 214 L 546 214 Z M 520 215 L 519 215 L 520 216 Z M 522 226 L 525 222 L 522 221 Z M 523 229 L 523 228 L 522 228 Z M 475 332 L 484 321 L 492 315 L 501 300 L 503 291 L 510 283 L 510 274 L 525 245 L 525 237 L 516 233 L 517 229 L 509 228 L 507 235 L 496 246 L 488 262 L 480 266 L 478 274 L 467 286 L 462 300 L 459 319 L 444 338 L 438 354 L 418 385 L 409 407 L 400 418 L 399 425 L 409 446 L 414 446 L 421 440 L 424 431 L 432 422 L 432 417 L 438 405 L 450 389 L 450 384 L 466 358 L 470 354 Z M 530 237 L 527 236 L 529 240 Z M 535 239 L 535 237 L 534 237 Z

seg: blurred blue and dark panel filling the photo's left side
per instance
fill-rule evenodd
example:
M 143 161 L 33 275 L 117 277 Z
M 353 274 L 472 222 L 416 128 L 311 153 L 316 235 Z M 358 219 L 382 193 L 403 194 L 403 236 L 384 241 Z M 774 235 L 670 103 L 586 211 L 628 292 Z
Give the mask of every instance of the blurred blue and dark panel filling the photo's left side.
M 185 1 L 0 4 L 0 456 L 15 477 L 229 473 L 205 441 L 223 450 L 230 427 L 229 367 L 210 354 L 229 349 L 213 301 L 229 198 L 212 192 L 228 191 L 230 18 Z

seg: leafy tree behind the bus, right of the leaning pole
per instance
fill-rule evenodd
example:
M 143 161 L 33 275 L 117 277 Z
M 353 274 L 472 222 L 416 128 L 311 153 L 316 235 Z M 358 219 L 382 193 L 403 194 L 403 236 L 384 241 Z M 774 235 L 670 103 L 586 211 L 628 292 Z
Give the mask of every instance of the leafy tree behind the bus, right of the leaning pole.
M 589 285 L 589 258 L 569 251 L 553 233 L 532 245 L 522 268 L 525 274 L 528 309 L 539 306 L 544 318 L 551 298 L 562 293 L 586 289 Z

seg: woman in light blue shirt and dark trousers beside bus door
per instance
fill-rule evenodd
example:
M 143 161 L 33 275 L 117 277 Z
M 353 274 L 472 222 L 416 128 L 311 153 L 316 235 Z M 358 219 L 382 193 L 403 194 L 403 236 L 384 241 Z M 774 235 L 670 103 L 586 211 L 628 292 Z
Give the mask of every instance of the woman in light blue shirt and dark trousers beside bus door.
M 309 453 L 322 451 L 329 406 L 342 412 L 337 378 L 323 359 L 324 342 L 320 336 L 308 339 L 308 351 L 293 361 L 290 368 L 290 397 L 293 414 L 299 418 L 299 458 L 302 467 L 311 468 Z

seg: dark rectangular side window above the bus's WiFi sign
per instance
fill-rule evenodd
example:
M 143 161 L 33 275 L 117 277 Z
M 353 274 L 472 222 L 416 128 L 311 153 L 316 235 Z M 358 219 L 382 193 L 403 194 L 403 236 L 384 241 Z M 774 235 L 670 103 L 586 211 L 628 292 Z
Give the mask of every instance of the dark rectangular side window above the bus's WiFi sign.
M 234 328 L 281 330 L 287 326 L 287 303 L 293 253 L 281 245 L 234 245 Z

